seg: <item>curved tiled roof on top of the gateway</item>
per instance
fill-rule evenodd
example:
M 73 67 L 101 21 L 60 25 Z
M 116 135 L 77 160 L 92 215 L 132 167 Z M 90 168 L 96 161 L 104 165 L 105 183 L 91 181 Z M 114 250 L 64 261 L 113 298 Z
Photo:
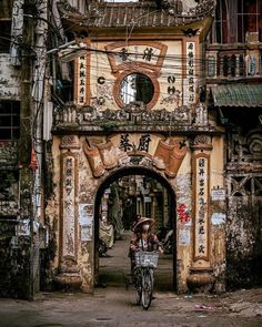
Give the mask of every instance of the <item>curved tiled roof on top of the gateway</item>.
M 174 1 L 173 3 L 182 1 Z M 178 4 L 178 3 L 177 3 Z M 181 4 L 182 6 L 182 4 Z M 142 2 L 92 2 L 87 14 L 77 16 L 60 6 L 63 16 L 81 20 L 81 24 L 93 28 L 121 27 L 175 27 L 190 24 L 213 14 L 214 0 L 203 0 L 189 12 L 179 6 L 158 8 L 154 1 Z M 64 11 L 66 10 L 66 11 Z

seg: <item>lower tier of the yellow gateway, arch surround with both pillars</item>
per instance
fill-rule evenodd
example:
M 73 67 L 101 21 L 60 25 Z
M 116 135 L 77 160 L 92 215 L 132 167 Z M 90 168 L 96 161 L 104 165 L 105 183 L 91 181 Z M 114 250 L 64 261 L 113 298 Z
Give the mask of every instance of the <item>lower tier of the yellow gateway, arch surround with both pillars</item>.
M 57 175 L 60 181 L 58 285 L 93 290 L 98 265 L 95 203 L 104 185 L 115 176 L 135 171 L 157 177 L 173 194 L 178 290 L 187 290 L 187 278 L 192 289 L 210 287 L 214 282 L 210 275 L 213 272 L 209 192 L 213 145 L 210 137 L 196 137 L 193 146 L 184 137 L 154 133 L 115 133 L 110 137 L 71 134 L 57 141 L 56 161 L 60 167 Z M 222 197 L 219 200 L 223 202 Z M 218 216 L 215 224 L 221 226 L 220 215 L 213 213 L 213 216 Z

